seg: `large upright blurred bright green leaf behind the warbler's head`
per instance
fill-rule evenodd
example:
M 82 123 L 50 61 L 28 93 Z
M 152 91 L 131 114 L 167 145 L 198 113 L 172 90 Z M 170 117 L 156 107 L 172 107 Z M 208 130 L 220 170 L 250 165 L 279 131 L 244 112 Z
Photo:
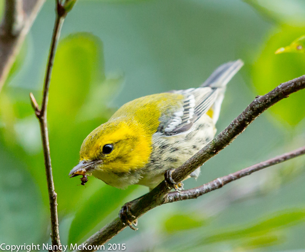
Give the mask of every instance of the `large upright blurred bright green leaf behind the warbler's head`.
M 79 180 L 68 174 L 78 163 L 84 138 L 113 113 L 107 103 L 120 82 L 120 78 L 109 81 L 105 77 L 102 41 L 98 37 L 77 33 L 59 43 L 50 84 L 48 124 L 58 202 L 66 213 L 75 211 L 76 205 L 81 207 L 85 200 L 78 199 L 85 199 L 104 184 L 90 179 L 84 190 L 77 186 Z

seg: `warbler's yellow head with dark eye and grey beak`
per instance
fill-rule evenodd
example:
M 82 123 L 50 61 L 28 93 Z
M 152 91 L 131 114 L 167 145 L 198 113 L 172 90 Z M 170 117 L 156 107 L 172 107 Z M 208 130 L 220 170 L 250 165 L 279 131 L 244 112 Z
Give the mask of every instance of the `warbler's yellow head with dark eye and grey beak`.
M 151 138 L 139 125 L 124 121 L 108 121 L 93 130 L 84 140 L 80 163 L 70 175 L 86 172 L 129 172 L 147 164 L 151 153 Z

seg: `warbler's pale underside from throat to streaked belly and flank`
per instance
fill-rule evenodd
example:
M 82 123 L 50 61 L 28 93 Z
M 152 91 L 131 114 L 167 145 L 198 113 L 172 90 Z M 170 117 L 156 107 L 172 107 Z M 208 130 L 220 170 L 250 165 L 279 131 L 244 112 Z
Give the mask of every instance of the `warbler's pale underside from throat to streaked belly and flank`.
M 173 136 L 164 136 L 160 132 L 153 134 L 153 150 L 149 163 L 145 167 L 121 173 L 105 171 L 101 167 L 92 171 L 92 175 L 117 188 L 123 189 L 128 185 L 139 184 L 152 189 L 164 179 L 167 169 L 178 168 L 210 142 L 215 133 L 216 128 L 212 119 L 203 115 L 189 131 L 184 133 Z M 198 175 L 199 171 L 191 176 Z

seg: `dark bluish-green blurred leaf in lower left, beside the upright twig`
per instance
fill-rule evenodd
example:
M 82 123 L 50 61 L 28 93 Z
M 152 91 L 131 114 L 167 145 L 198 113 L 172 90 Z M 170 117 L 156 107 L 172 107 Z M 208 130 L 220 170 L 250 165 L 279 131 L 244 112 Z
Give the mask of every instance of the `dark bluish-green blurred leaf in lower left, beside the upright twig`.
M 26 164 L 14 150 L 3 146 L 2 135 L 0 150 L 4 173 L 0 177 L 0 240 L 8 244 L 23 244 L 24 240 L 39 243 L 41 233 L 46 230 L 44 220 L 48 210 L 43 208 L 41 195 Z

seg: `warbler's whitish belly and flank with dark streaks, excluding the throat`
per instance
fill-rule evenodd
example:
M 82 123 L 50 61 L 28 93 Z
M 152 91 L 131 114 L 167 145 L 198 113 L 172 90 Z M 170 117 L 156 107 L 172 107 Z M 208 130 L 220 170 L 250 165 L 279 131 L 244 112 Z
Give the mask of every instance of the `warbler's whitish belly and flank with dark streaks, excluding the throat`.
M 184 133 L 173 136 L 155 133 L 150 162 L 143 169 L 142 178 L 137 184 L 149 188 L 155 187 L 164 179 L 164 173 L 167 169 L 178 168 L 210 142 L 215 133 L 216 128 L 212 119 L 207 115 L 203 115 L 196 121 L 192 129 Z

